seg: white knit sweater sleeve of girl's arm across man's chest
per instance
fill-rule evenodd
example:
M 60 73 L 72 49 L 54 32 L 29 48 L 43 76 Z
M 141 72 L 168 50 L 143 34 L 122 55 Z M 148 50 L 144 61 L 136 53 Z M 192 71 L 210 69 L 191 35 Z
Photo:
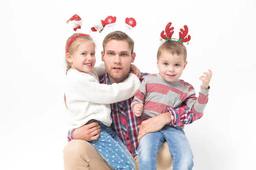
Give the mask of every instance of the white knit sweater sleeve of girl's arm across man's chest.
M 140 87 L 140 80 L 135 74 L 129 74 L 128 78 L 120 83 L 112 85 L 100 84 L 90 75 L 85 75 L 71 82 L 70 92 L 76 99 L 111 104 L 131 98 Z

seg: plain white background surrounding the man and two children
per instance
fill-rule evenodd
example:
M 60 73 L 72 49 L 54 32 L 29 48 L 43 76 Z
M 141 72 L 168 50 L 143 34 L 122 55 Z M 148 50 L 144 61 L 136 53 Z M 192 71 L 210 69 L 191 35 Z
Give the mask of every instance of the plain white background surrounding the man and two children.
M 256 1 L 255 0 L 9 0 L 0 3 L 0 169 L 63 170 L 67 144 L 63 104 L 66 21 L 78 14 L 81 32 L 116 16 L 113 29 L 125 31 L 126 17 L 137 26 L 126 31 L 134 42 L 135 65 L 157 73 L 160 32 L 168 22 L 183 25 L 192 39 L 182 79 L 197 95 L 204 71 L 213 72 L 202 119 L 185 127 L 195 170 L 255 169 Z M 96 65 L 103 38 L 92 32 Z

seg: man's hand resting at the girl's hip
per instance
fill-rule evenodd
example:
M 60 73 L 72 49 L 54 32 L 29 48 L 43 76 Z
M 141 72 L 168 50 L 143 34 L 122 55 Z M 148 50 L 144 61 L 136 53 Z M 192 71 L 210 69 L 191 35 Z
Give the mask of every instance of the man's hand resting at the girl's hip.
M 99 138 L 101 127 L 99 123 L 93 122 L 89 125 L 83 125 L 73 131 L 73 138 L 84 141 L 93 141 Z

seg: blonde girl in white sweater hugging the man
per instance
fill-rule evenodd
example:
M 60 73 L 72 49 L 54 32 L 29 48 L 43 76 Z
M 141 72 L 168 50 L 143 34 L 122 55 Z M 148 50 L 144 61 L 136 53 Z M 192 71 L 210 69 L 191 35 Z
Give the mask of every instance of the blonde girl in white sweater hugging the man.
M 73 34 L 66 43 L 67 76 L 65 102 L 70 116 L 70 129 L 96 121 L 101 125 L 97 140 L 89 141 L 116 170 L 136 170 L 131 153 L 110 125 L 111 103 L 131 98 L 140 87 L 140 80 L 130 73 L 121 83 L 105 85 L 99 76 L 105 68 L 94 68 L 95 43 L 87 34 Z M 127 150 L 127 151 L 125 151 Z

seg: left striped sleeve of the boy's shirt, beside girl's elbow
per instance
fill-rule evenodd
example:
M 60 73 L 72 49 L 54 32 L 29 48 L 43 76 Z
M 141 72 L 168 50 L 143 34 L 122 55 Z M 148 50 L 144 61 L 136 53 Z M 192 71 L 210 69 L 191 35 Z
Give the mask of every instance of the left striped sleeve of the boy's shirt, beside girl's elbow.
M 144 100 L 146 96 L 146 85 L 145 85 L 145 79 L 141 82 L 140 88 L 136 92 L 134 99 L 131 102 L 131 109 L 134 112 L 134 105 L 138 103 L 142 103 L 144 105 Z

